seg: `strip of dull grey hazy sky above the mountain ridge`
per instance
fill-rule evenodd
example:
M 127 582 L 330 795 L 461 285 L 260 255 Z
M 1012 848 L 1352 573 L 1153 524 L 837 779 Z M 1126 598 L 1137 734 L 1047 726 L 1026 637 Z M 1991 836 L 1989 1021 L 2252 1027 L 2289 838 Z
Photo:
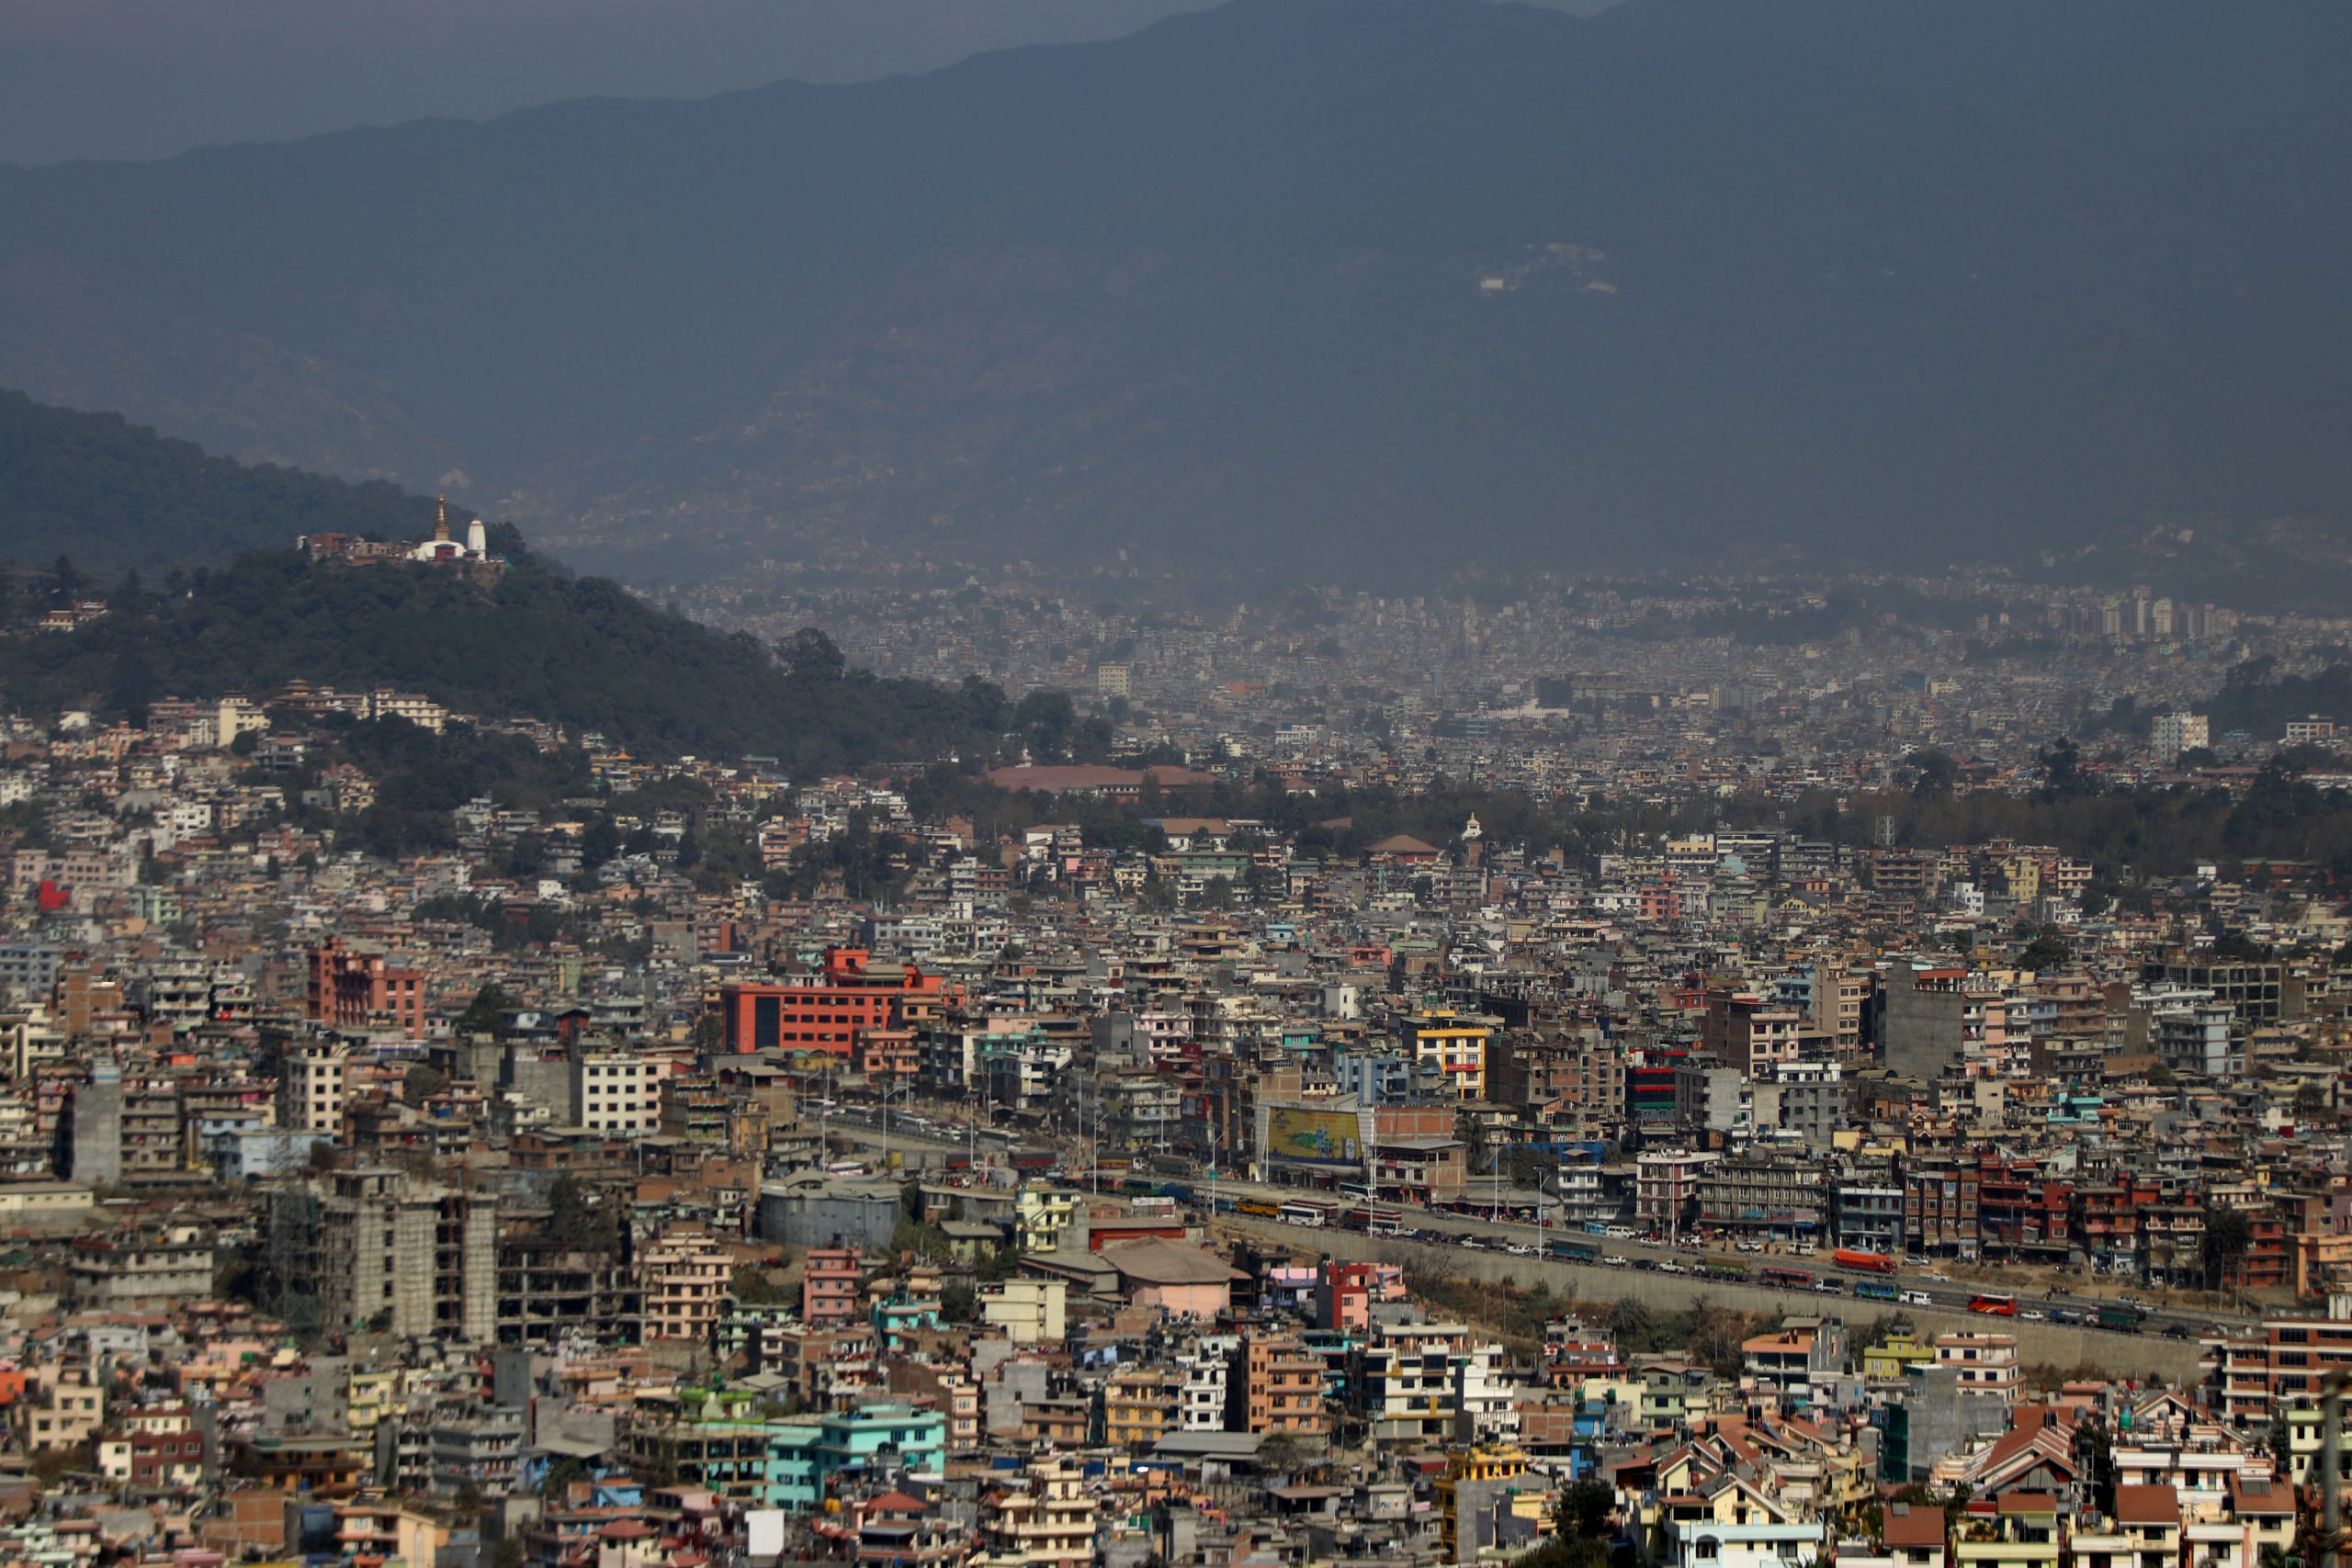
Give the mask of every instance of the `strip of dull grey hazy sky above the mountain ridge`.
M 7 0 L 0 160 L 165 158 L 590 94 L 854 82 L 981 49 L 1120 38 L 1209 2 Z

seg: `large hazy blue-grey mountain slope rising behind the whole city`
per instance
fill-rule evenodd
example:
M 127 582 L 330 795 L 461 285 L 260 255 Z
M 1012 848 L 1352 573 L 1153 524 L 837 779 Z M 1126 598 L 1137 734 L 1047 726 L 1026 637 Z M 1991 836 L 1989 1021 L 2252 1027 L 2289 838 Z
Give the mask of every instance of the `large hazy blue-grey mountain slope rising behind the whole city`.
M 2345 66 L 2345 7 L 1242 0 L 0 172 L 0 378 L 659 574 L 2340 527 Z

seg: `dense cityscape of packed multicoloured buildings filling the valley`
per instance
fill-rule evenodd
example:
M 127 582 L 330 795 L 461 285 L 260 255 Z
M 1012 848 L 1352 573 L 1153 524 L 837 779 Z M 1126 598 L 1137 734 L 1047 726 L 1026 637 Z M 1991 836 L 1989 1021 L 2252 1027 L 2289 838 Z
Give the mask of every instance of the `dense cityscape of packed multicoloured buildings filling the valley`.
M 449 538 L 303 571 L 501 581 Z M 54 576 L 12 637 L 118 614 Z M 790 778 L 306 679 L 9 717 L 5 1561 L 2277 1568 L 2321 1528 L 2340 621 L 1924 578 L 694 609 L 804 682 L 1002 682 L 1007 729 Z

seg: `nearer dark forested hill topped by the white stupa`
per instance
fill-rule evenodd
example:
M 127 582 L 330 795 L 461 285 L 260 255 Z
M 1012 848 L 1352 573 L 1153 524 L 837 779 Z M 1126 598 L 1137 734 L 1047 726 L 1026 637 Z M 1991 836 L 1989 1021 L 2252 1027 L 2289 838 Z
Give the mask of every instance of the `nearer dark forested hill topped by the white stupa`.
M 607 578 L 510 559 L 485 583 L 282 550 L 198 571 L 181 597 L 118 590 L 80 630 L 0 637 L 0 698 L 33 715 L 136 712 L 162 696 L 266 698 L 299 677 L 423 691 L 654 755 L 774 755 L 797 773 L 985 752 L 1014 717 L 985 682 L 950 691 L 844 672 L 821 639 L 786 668 L 755 637 L 663 614 Z

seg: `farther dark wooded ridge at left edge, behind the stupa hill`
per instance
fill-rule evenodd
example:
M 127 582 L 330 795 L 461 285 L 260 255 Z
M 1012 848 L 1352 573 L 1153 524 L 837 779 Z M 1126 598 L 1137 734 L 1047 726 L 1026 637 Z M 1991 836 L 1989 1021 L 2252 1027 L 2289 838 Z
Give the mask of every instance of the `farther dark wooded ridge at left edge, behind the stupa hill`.
M 160 576 L 285 548 L 296 534 L 430 529 L 433 501 L 395 484 L 235 463 L 120 414 L 0 390 L 0 559 L 52 567 L 64 555 L 101 578 Z

